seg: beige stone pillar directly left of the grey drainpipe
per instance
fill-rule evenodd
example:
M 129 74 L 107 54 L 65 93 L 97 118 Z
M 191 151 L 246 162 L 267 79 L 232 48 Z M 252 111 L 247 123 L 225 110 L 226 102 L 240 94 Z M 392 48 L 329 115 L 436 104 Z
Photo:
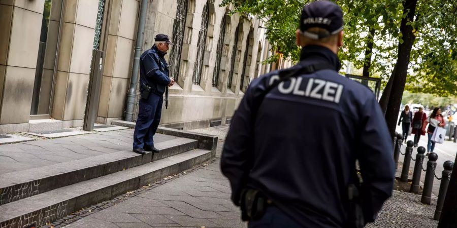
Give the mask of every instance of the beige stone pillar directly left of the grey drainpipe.
M 140 7 L 137 0 L 114 0 L 112 4 L 98 112 L 99 122 L 105 124 L 121 119 L 125 108 Z

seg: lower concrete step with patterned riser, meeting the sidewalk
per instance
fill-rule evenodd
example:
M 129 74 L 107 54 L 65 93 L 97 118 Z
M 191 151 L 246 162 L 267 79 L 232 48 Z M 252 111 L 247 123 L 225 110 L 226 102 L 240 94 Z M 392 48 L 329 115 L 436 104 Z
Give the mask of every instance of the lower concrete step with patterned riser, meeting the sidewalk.
M 140 157 L 148 157 L 148 155 L 140 155 Z M 0 227 L 45 225 L 89 205 L 113 199 L 156 180 L 187 170 L 212 157 L 211 150 L 192 149 L 145 165 L 8 203 L 0 206 Z

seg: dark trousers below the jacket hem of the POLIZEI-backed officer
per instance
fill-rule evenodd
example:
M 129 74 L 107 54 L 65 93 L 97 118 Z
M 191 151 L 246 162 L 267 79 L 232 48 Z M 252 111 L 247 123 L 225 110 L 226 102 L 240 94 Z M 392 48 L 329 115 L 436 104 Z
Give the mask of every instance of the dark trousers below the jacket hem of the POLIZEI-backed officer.
M 290 218 L 288 215 L 284 214 L 284 212 L 279 210 L 277 207 L 269 206 L 264 216 L 262 216 L 262 218 L 255 221 L 249 221 L 249 228 L 255 227 L 295 228 L 303 226 L 301 226 L 295 220 Z

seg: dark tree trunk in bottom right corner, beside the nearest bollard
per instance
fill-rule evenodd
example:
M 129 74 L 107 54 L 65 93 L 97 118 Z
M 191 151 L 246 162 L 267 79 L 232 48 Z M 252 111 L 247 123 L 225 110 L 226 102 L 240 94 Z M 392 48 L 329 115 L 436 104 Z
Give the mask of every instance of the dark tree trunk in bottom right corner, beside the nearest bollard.
M 457 205 L 457 158 L 455 158 L 451 179 L 447 187 L 438 228 L 457 227 L 457 207 L 455 205 Z

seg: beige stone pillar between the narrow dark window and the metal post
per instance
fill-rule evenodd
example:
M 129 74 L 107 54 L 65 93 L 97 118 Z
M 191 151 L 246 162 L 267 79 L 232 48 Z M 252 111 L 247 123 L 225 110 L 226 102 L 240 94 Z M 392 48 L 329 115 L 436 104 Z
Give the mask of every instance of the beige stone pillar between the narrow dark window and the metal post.
M 68 0 L 62 26 L 51 116 L 82 126 L 99 1 Z

